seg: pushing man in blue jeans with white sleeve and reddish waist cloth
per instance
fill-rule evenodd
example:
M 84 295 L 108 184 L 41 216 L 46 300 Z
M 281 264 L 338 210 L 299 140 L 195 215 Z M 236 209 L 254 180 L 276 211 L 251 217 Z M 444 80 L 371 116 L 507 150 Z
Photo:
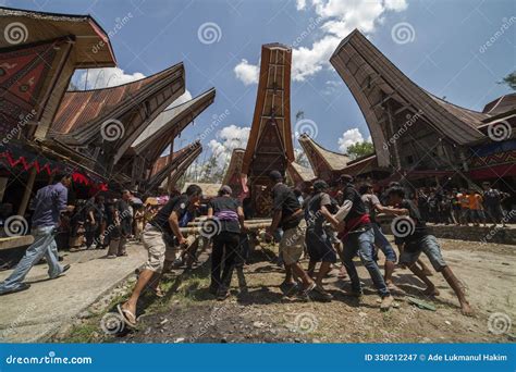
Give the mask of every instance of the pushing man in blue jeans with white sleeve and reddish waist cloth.
M 371 221 L 367 213 L 366 204 L 361 200 L 360 194 L 353 185 L 353 177 L 344 174 L 341 176 L 343 189 L 343 207 L 335 214 L 337 220 L 343 218 L 339 225 L 339 236 L 344 244 L 343 261 L 347 274 L 352 282 L 352 295 L 361 296 L 360 278 L 353 258 L 358 255 L 364 266 L 366 266 L 372 283 L 382 298 L 380 310 L 386 311 L 391 308 L 394 298 L 391 296 L 385 284 L 380 268 L 374 261 L 374 232 L 371 227 Z M 347 213 L 342 213 L 342 209 L 347 209 Z M 340 216 L 339 216 L 340 215 Z

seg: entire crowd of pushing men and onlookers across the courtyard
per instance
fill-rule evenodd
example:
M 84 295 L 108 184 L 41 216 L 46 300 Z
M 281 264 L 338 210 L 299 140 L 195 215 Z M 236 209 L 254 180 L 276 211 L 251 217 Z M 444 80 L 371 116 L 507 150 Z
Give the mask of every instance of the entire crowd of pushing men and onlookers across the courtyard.
M 285 273 L 279 287 L 286 296 L 331 301 L 333 296 L 324 288 L 323 280 L 337 261 L 342 262 L 340 277 L 349 281 L 348 295 L 363 296 L 356 257 L 381 298 L 381 310 L 392 307 L 393 294 L 403 293 L 393 277 L 400 268 L 410 270 L 425 283 L 426 295 L 438 296 L 439 290 L 429 278 L 431 269 L 420 260 L 420 255 L 425 253 L 433 270 L 440 272 L 454 290 L 462 312 L 472 313 L 463 286 L 445 262 L 440 244 L 429 233 L 426 222 L 479 225 L 486 224 L 488 218 L 494 224 L 504 225 L 501 206 L 506 195 L 489 183 L 482 184 L 483 193 L 441 188 L 408 193 L 402 185 L 391 183 L 377 196 L 373 185 L 355 184 L 349 175 L 342 175 L 333 187 L 317 179 L 306 193 L 288 187 L 279 171 L 270 172 L 269 178 L 272 221 L 261 238 L 267 243 L 279 243 L 279 262 Z M 123 190 L 120 199 L 105 200 L 97 196 L 81 208 L 74 208 L 66 204 L 70 184 L 70 177 L 63 176 L 56 185 L 38 190 L 33 216 L 35 241 L 13 273 L 0 284 L 0 294 L 27 289 L 23 280 L 42 257 L 47 259 L 51 278 L 70 269 L 58 262 L 54 235 L 62 213 L 71 213 L 72 230 L 84 228 L 88 249 L 108 248 L 108 258 L 125 256 L 125 245 L 131 237 L 142 241 L 147 249 L 148 260 L 138 272 L 131 297 L 118 306 L 125 322 L 135 325 L 136 303 L 142 293 L 150 288 L 157 296 L 162 296 L 162 274 L 184 264 L 188 257 L 196 238 L 184 234 L 181 227 L 201 214 L 202 190 L 198 185 L 189 185 L 185 193 L 170 196 L 163 206 L 144 206 L 131 191 Z M 233 271 L 246 259 L 244 250 L 249 236 L 257 238 L 259 235 L 246 224 L 249 221 L 246 220 L 248 200 L 244 200 L 247 206 L 244 208 L 232 194 L 231 187 L 222 186 L 218 197 L 209 200 L 202 211 L 206 223 L 217 222 L 217 230 L 209 237 L 212 243 L 211 283 L 207 289 L 219 300 L 230 295 Z M 380 213 L 407 219 L 414 225 L 408 235 L 394 234 L 397 249 L 382 232 L 377 220 Z M 384 257 L 383 272 L 379 251 Z M 309 259 L 306 269 L 302 264 L 304 256 Z

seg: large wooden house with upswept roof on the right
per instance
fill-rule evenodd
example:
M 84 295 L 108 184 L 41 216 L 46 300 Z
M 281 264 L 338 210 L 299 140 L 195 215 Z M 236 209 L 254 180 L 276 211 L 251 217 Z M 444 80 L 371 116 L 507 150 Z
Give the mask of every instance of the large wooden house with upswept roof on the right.
M 447 102 L 410 80 L 356 29 L 342 40 L 330 62 L 366 119 L 378 165 L 391 168 L 397 176 L 433 178 L 432 174 L 453 173 L 469 183 L 475 148 L 493 145 L 487 127 L 504 117 L 516 127 L 515 98 L 491 102 L 484 112 Z M 505 142 L 513 153 L 516 144 L 507 145 L 512 140 Z M 516 175 L 507 159 L 504 170 Z

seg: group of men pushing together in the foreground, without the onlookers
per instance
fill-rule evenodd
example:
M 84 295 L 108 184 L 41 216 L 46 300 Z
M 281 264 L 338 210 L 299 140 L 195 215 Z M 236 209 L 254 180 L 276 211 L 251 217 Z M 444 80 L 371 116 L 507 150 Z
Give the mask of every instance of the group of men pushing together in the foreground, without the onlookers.
M 296 193 L 283 183 L 280 172 L 269 174 L 272 194 L 272 222 L 263 235 L 266 241 L 278 240 L 279 257 L 284 265 L 285 278 L 280 284 L 286 296 L 331 301 L 333 296 L 324 288 L 323 278 L 337 258 L 351 282 L 348 295 L 363 295 L 360 278 L 354 258 L 359 257 L 371 276 L 381 298 L 381 310 L 389 310 L 393 303 L 392 294 L 401 292 L 393 280 L 396 262 L 408 268 L 426 285 L 427 296 L 438 296 L 439 290 L 429 278 L 430 269 L 419 259 L 425 253 L 432 268 L 442 273 L 457 296 L 462 312 L 466 315 L 472 309 L 466 299 L 463 286 L 443 259 L 441 247 L 426 226 L 416 203 L 405 189 L 392 184 L 385 191 L 388 204 L 380 202 L 371 185 L 359 189 L 353 177 L 343 175 L 336 190 L 331 190 L 324 181 L 314 182 L 309 195 Z M 211 282 L 209 293 L 224 300 L 229 296 L 233 271 L 242 256 L 243 236 L 251 234 L 246 225 L 245 213 L 239 200 L 224 185 L 219 196 L 208 204 L 208 221 L 217 220 L 217 232 L 212 236 Z M 201 189 L 191 185 L 183 195 L 172 198 L 144 230 L 143 243 L 149 259 L 139 273 L 138 281 L 127 301 L 118 310 L 130 326 L 137 323 L 136 305 L 146 287 L 159 288 L 159 281 L 167 270 L 167 256 L 172 247 L 186 247 L 188 241 L 180 230 L 179 222 L 189 209 L 196 209 Z M 340 201 L 337 201 L 340 200 Z M 400 259 L 376 221 L 377 213 L 405 216 L 415 224 L 408 236 L 396 237 Z M 167 237 L 169 236 L 169 237 Z M 175 239 L 171 245 L 170 236 Z M 384 272 L 378 264 L 378 249 L 385 256 Z M 309 257 L 308 269 L 300 260 L 305 252 Z M 316 266 L 320 264 L 316 273 Z

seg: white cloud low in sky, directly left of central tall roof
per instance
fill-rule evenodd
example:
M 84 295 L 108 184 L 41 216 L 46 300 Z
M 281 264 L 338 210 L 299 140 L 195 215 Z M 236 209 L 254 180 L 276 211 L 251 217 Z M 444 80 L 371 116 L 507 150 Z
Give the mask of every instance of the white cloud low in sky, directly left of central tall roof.
M 246 148 L 250 127 L 234 124 L 223 127 L 217 133 L 217 138 L 208 142 L 213 156 L 218 159 L 219 166 L 224 166 L 231 159 L 233 149 Z

